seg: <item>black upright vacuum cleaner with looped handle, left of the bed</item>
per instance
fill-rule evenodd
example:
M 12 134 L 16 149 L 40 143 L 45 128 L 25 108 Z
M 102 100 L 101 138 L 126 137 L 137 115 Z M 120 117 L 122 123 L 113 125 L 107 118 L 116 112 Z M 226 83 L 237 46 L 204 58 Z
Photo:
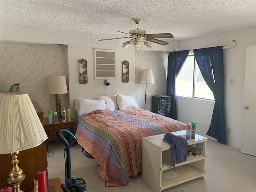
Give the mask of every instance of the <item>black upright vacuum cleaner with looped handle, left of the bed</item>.
M 67 138 L 63 136 L 63 133 L 67 134 Z M 70 159 L 70 148 L 76 142 L 76 137 L 68 130 L 62 129 L 56 132 L 56 136 L 64 143 L 66 149 L 64 151 L 66 155 L 66 167 L 65 167 L 65 184 L 61 184 L 63 192 L 85 192 L 86 184 L 82 178 L 71 177 L 71 159 Z

